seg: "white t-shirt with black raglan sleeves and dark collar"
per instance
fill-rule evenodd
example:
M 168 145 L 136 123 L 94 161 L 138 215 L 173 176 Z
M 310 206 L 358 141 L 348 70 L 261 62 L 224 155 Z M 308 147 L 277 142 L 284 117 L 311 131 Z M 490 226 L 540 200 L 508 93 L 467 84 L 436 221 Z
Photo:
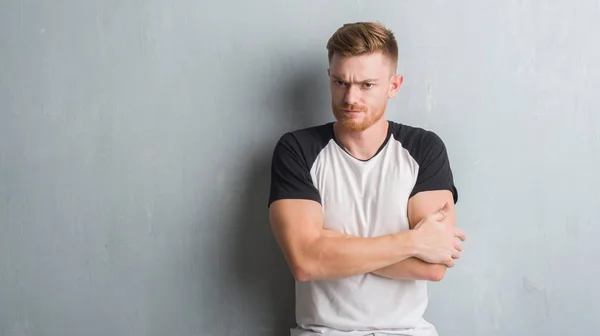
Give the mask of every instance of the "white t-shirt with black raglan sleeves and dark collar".
M 409 230 L 410 197 L 452 191 L 458 200 L 446 147 L 433 132 L 388 121 L 388 136 L 369 160 L 337 142 L 333 123 L 296 130 L 278 141 L 271 167 L 269 205 L 278 199 L 321 204 L 324 227 L 361 237 Z M 296 282 L 299 328 L 323 335 L 373 332 L 434 336 L 425 321 L 427 282 L 360 274 Z

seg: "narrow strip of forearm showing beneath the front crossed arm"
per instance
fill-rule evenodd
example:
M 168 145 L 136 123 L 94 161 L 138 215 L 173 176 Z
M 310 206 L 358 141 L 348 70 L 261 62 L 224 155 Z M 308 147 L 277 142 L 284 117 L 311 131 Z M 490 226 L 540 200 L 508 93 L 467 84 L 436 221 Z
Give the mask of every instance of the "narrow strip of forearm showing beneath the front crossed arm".
M 446 273 L 446 265 L 430 264 L 411 257 L 398 263 L 375 270 L 372 273 L 397 280 L 440 281 Z

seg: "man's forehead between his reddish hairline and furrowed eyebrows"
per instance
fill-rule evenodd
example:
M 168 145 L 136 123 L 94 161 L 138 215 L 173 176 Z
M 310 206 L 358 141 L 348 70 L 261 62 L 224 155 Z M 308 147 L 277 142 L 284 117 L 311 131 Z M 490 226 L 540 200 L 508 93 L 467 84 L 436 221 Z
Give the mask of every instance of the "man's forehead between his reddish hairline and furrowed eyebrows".
M 387 76 L 390 73 L 391 61 L 379 52 L 351 57 L 334 54 L 329 68 L 333 76 L 376 78 Z

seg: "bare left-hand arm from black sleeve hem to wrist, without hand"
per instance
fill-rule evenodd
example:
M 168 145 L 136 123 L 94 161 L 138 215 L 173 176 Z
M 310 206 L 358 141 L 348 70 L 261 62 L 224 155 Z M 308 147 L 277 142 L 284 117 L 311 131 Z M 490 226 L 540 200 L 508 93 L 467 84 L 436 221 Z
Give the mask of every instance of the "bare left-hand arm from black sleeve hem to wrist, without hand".
M 323 229 L 320 204 L 281 199 L 270 207 L 271 228 L 296 280 L 369 273 L 414 255 L 412 232 L 362 238 Z

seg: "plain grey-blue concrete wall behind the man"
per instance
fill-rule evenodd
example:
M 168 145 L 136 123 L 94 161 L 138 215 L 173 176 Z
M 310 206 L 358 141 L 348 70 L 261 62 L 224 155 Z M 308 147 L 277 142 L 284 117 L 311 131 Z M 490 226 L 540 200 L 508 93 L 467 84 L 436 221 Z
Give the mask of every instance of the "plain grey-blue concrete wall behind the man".
M 0 1 L 0 335 L 285 335 L 268 227 L 325 43 L 394 30 L 388 118 L 436 131 L 465 254 L 444 336 L 600 334 L 600 2 Z

